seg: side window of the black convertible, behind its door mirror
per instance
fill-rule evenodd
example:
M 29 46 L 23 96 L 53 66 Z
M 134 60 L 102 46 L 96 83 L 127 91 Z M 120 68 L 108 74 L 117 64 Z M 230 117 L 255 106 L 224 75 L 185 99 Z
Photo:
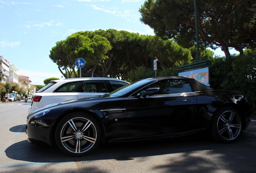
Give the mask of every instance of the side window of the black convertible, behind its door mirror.
M 166 80 L 155 82 L 141 89 L 140 91 L 136 92 L 135 95 L 143 95 L 146 93 L 146 90 L 149 88 L 160 88 L 160 95 L 192 92 L 190 84 L 186 80 L 166 79 Z

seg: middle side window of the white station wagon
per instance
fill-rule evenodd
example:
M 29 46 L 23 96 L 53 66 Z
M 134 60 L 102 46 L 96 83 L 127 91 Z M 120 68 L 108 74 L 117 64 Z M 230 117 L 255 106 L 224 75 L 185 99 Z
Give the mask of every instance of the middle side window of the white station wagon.
M 85 81 L 82 89 L 84 93 L 109 93 L 105 81 Z

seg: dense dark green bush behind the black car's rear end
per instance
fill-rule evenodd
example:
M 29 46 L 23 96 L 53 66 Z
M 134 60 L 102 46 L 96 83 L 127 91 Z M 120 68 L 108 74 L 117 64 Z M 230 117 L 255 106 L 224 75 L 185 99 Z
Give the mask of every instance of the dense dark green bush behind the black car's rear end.
M 211 61 L 211 87 L 243 91 L 252 105 L 256 118 L 256 51 L 245 50 L 244 55 L 227 58 L 214 57 Z

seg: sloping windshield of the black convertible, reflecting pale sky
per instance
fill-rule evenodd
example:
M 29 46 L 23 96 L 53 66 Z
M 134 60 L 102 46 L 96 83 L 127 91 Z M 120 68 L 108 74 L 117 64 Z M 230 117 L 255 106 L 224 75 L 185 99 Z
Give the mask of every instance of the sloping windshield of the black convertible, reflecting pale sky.
M 152 82 L 153 80 L 154 79 L 152 79 L 152 78 L 147 78 L 147 79 L 143 79 L 143 80 L 138 80 L 136 82 L 132 82 L 128 85 L 125 85 L 124 87 L 121 87 L 120 89 L 117 89 L 117 90 L 113 91 L 109 95 L 114 96 L 114 97 L 126 95 L 127 93 L 130 93 L 133 90 L 138 89 L 138 87 L 143 86 L 143 85 L 145 85 L 149 82 Z

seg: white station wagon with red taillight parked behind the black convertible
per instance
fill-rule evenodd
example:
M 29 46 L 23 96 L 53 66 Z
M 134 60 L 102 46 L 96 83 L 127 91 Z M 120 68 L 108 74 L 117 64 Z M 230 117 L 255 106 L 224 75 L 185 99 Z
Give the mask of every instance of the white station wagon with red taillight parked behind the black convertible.
M 110 93 L 129 84 L 116 78 L 68 78 L 52 80 L 48 85 L 32 95 L 32 105 L 29 114 L 33 111 L 68 99 L 90 97 Z

